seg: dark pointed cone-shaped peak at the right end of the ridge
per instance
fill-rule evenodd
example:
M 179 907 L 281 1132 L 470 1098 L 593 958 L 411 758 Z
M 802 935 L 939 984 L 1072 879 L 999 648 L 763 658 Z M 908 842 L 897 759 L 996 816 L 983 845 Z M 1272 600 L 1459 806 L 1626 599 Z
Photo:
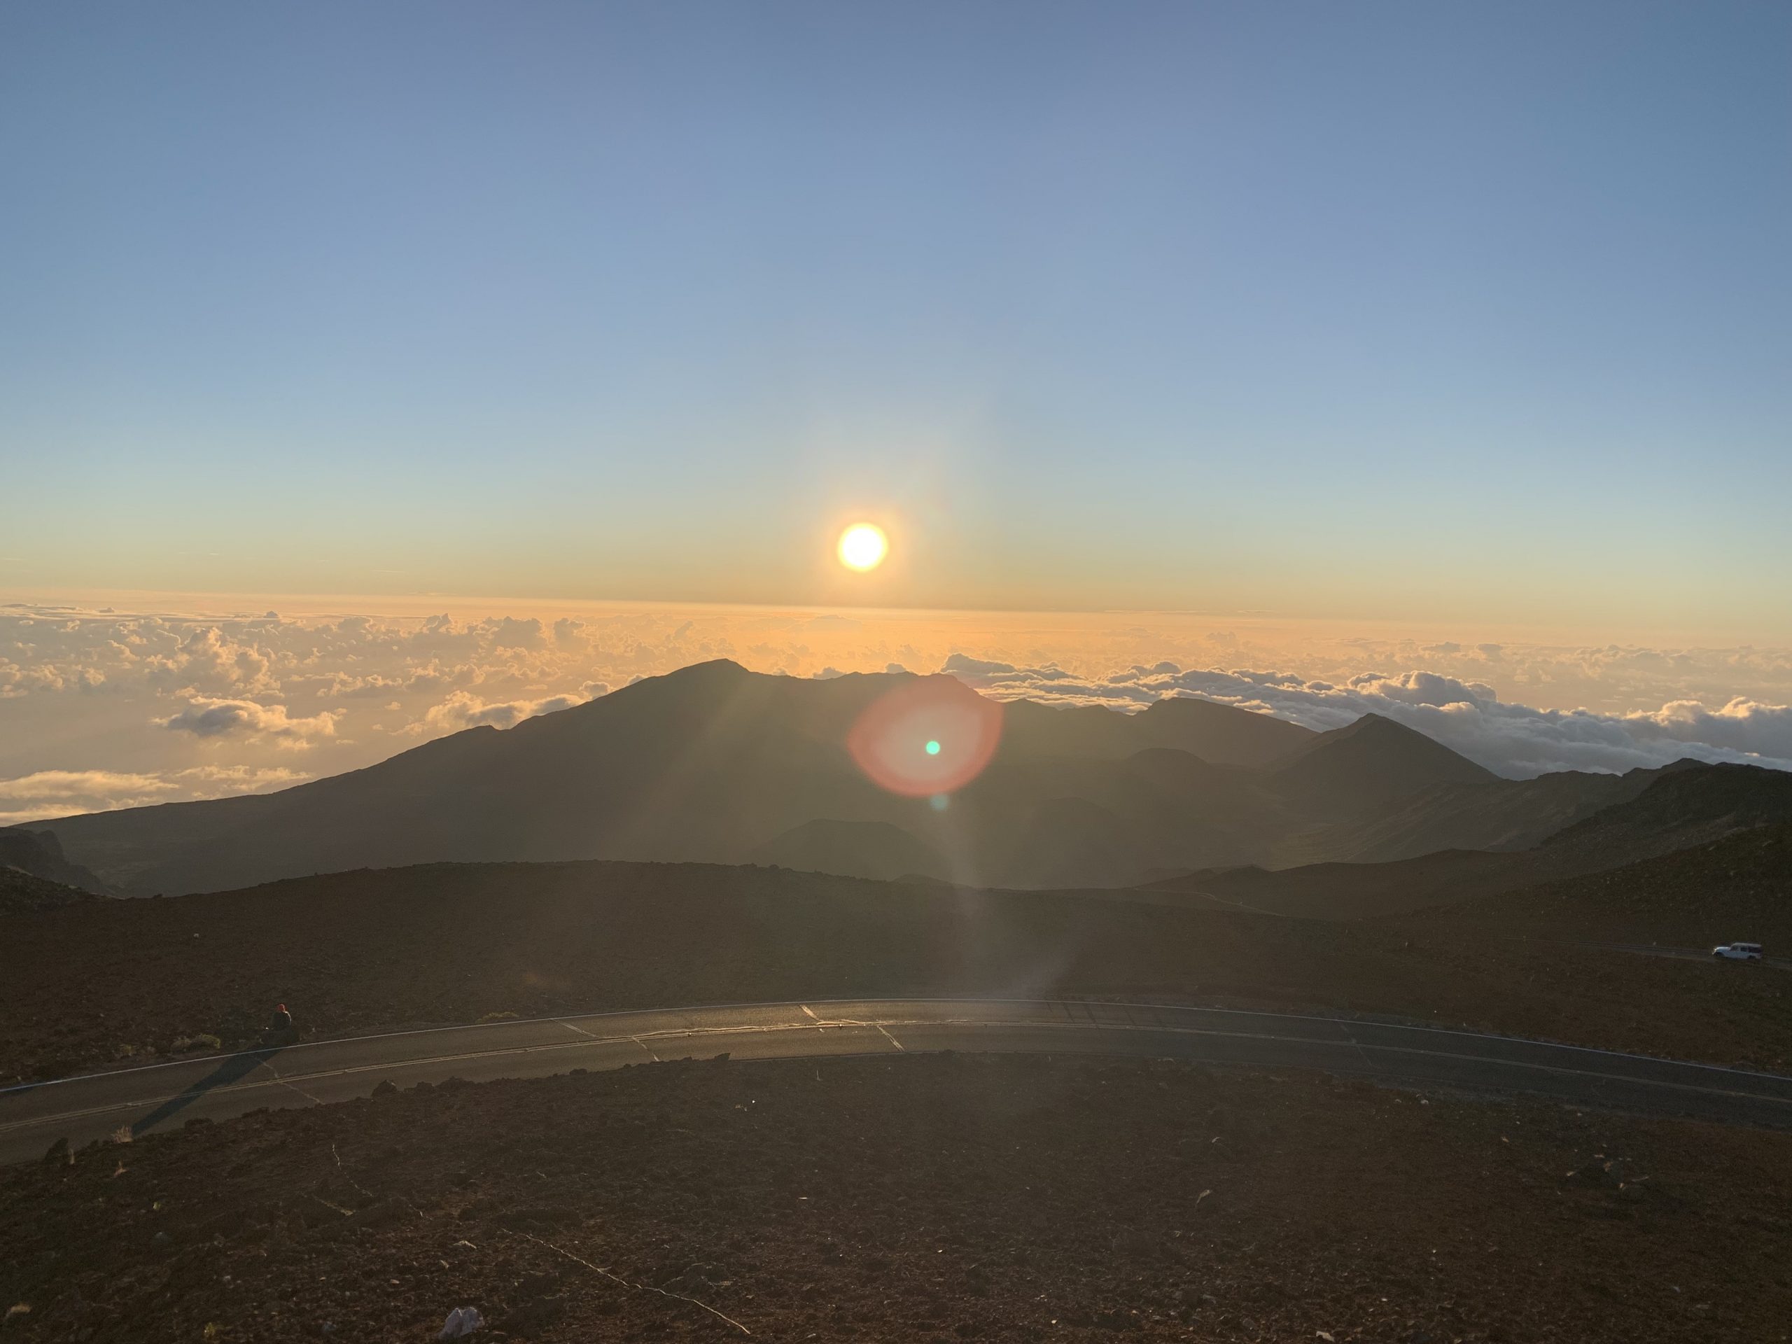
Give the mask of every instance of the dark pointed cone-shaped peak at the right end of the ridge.
M 1276 765 L 1272 787 L 1308 815 L 1344 821 L 1421 790 L 1498 778 L 1417 729 L 1366 713 L 1301 744 Z

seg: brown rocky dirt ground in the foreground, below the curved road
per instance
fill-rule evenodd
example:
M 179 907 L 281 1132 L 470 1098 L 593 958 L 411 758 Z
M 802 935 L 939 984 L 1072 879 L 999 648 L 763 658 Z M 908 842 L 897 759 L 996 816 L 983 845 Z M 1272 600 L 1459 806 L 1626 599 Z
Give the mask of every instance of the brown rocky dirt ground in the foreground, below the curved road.
M 0 1297 L 20 1344 L 426 1340 L 459 1305 L 475 1339 L 745 1339 L 649 1288 L 763 1340 L 1785 1340 L 1788 1208 L 1792 1136 L 1693 1122 L 1149 1061 L 667 1063 L 0 1172 Z

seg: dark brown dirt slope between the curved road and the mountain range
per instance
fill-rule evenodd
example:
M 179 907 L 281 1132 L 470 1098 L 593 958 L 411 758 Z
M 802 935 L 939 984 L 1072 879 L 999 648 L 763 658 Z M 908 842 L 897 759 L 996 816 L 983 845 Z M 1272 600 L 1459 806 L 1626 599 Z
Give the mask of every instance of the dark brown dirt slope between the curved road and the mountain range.
M 993 993 L 1346 1011 L 1785 1070 L 1792 977 L 1116 896 L 754 867 L 487 864 L 0 916 L 0 1081 L 253 1041 L 685 1004 Z

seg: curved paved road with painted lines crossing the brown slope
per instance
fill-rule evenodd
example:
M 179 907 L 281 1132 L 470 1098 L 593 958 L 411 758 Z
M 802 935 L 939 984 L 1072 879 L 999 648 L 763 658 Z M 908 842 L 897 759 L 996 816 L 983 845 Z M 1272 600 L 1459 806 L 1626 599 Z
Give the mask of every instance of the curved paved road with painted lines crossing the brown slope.
M 1641 1055 L 1279 1012 L 1043 1000 L 745 1004 L 606 1012 L 362 1036 L 211 1055 L 0 1091 L 0 1161 L 122 1127 L 133 1134 L 263 1106 L 308 1106 L 398 1086 L 541 1077 L 652 1059 L 792 1059 L 914 1050 L 1145 1055 L 1315 1068 L 1423 1086 L 1525 1091 L 1564 1102 L 1792 1127 L 1792 1077 Z

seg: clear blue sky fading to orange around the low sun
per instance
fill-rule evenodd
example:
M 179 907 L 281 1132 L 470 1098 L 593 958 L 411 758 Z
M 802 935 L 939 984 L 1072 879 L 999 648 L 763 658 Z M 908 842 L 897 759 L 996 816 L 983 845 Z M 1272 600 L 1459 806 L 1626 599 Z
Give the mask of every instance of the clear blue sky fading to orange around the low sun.
M 11 5 L 0 588 L 1792 638 L 1788 52 L 1783 4 Z

